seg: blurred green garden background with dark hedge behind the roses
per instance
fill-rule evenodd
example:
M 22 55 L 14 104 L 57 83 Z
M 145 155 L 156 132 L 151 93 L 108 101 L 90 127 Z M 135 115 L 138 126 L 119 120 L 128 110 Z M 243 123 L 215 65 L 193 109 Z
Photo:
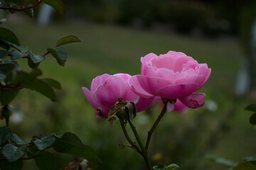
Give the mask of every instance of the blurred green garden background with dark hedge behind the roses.
M 11 129 L 19 136 L 51 132 L 75 132 L 102 159 L 97 169 L 144 169 L 139 155 L 129 148 L 119 123 L 110 126 L 107 120 L 97 120 L 87 103 L 82 86 L 90 87 L 100 74 L 140 73 L 140 57 L 154 52 L 181 51 L 207 63 L 212 69 L 210 79 L 200 90 L 206 93 L 206 106 L 190 109 L 186 114 L 168 113 L 153 136 L 149 148 L 153 164 L 178 164 L 181 169 L 226 169 L 209 162 L 206 154 L 241 162 L 242 157 L 256 156 L 255 127 L 250 125 L 250 113 L 244 106 L 255 103 L 253 91 L 236 97 L 235 81 L 242 59 L 247 56 L 247 32 L 242 11 L 250 1 L 239 4 L 230 1 L 63 1 L 65 13 L 55 13 L 48 26 L 38 26 L 22 13 L 9 16 L 2 24 L 16 33 L 22 45 L 41 54 L 54 47 L 58 39 L 77 35 L 84 42 L 65 45 L 68 60 L 60 67 L 47 56 L 39 66 L 43 77 L 62 84 L 59 101 L 26 89 L 13 101 L 15 112 Z M 253 11 L 253 10 L 252 10 Z M 253 13 L 253 12 L 252 12 Z M 234 14 L 234 15 L 233 15 Z M 241 21 L 241 22 L 240 22 Z M 250 25 L 250 24 L 248 24 Z M 242 28 L 244 32 L 242 32 Z M 243 36 L 242 36 L 243 35 Z M 26 61 L 21 60 L 26 67 Z M 134 119 L 146 142 L 149 130 L 161 111 L 156 104 Z M 4 125 L 4 121 L 1 121 Z M 24 169 L 36 169 L 26 162 Z

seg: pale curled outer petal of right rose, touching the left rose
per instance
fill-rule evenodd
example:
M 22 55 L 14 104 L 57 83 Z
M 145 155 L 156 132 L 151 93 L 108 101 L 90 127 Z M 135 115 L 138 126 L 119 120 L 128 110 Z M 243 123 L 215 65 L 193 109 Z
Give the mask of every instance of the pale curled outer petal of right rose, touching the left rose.
M 139 84 L 137 76 L 133 76 L 128 80 L 129 86 L 131 87 L 132 91 L 138 96 L 142 96 L 144 98 L 152 97 L 153 95 L 146 92 L 142 86 Z

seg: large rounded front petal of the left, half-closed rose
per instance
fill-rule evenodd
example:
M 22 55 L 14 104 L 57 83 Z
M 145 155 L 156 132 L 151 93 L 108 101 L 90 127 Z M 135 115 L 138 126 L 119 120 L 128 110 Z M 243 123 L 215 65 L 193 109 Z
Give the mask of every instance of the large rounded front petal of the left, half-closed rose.
M 102 106 L 111 107 L 114 106 L 118 98 L 124 98 L 126 93 L 127 84 L 124 79 L 112 76 L 95 90 L 93 97 L 95 101 L 101 103 Z

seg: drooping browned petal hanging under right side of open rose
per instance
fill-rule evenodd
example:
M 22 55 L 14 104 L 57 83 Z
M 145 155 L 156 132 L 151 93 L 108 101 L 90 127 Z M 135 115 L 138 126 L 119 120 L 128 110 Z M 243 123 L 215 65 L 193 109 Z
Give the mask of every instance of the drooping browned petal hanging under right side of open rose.
M 200 108 L 204 105 L 206 94 L 193 93 L 184 98 L 179 98 L 179 100 L 188 108 Z

